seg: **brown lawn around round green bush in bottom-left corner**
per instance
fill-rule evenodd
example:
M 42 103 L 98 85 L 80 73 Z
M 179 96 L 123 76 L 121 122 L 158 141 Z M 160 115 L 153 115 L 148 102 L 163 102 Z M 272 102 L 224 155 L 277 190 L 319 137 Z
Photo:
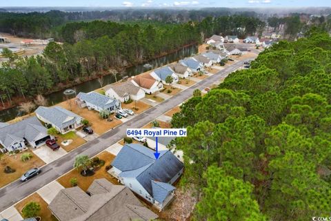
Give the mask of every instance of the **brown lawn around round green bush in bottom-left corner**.
M 23 207 L 29 202 L 37 202 L 40 205 L 41 210 L 38 216 L 41 217 L 41 220 L 57 221 L 57 218 L 55 218 L 55 216 L 52 215 L 52 212 L 48 209 L 47 202 L 45 202 L 45 200 L 43 200 L 43 198 L 41 198 L 41 196 L 38 193 L 33 193 L 28 198 L 25 198 L 18 204 L 15 204 L 14 207 L 17 209 L 17 211 L 19 211 L 19 213 L 21 213 Z

